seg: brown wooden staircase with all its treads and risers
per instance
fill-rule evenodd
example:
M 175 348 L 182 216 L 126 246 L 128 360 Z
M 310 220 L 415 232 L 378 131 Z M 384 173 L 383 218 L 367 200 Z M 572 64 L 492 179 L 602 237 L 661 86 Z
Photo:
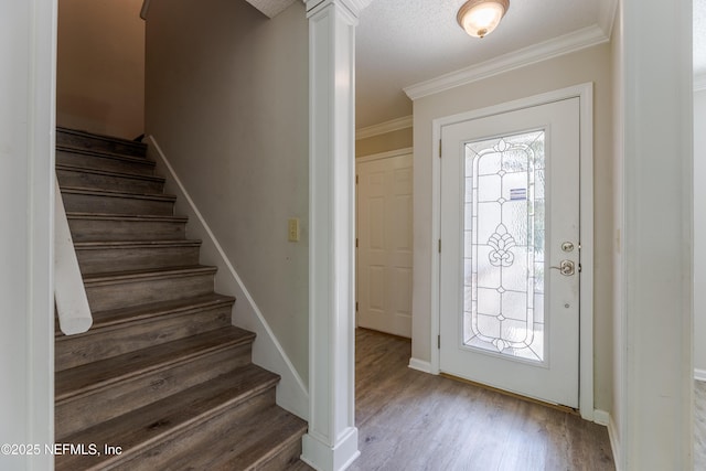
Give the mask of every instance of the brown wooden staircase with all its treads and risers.
M 56 174 L 93 312 L 55 336 L 56 470 L 303 470 L 307 424 L 275 404 L 146 146 L 58 129 Z

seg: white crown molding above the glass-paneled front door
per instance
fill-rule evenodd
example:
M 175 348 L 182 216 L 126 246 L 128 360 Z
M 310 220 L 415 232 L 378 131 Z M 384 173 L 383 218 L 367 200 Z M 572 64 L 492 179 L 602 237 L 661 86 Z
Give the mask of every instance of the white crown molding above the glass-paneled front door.
M 608 41 L 609 38 L 603 30 L 595 24 L 460 71 L 443 74 L 430 81 L 410 85 L 404 90 L 414 100 Z

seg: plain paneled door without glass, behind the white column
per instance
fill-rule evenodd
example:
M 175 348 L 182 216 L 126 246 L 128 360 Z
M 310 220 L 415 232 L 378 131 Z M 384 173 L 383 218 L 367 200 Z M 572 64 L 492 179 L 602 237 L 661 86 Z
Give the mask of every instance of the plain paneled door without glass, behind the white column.
M 411 154 L 357 167 L 357 324 L 411 336 Z

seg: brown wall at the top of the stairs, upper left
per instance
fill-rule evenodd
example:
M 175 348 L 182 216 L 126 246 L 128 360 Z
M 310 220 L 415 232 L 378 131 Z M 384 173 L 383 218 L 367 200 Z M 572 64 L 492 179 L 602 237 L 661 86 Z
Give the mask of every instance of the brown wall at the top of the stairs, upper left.
M 61 0 L 56 122 L 135 139 L 145 132 L 142 0 Z

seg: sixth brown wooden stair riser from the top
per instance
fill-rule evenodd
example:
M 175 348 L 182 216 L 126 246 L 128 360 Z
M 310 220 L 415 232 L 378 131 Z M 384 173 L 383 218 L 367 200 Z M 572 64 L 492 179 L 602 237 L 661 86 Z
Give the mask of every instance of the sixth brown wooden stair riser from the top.
M 76 256 L 81 272 L 90 275 L 197 265 L 199 246 L 79 248 Z

